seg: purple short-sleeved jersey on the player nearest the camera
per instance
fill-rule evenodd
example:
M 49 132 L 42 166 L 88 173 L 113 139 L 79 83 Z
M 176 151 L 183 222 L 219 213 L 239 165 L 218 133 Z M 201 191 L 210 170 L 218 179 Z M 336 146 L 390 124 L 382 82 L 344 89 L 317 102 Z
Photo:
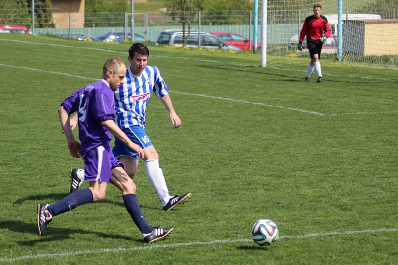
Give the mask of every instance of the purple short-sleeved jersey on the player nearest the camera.
M 112 139 L 109 131 L 101 125 L 101 121 L 115 117 L 113 91 L 105 80 L 100 79 L 73 92 L 61 106 L 69 115 L 78 112 L 82 155 Z

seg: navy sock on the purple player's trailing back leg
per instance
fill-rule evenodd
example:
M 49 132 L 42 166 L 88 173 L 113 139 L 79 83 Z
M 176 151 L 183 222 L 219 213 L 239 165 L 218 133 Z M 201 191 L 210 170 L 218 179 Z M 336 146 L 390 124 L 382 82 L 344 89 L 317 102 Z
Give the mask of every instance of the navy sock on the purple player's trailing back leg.
M 73 194 L 61 199 L 57 203 L 47 207 L 47 210 L 52 216 L 70 211 L 79 205 L 93 202 L 93 193 L 90 189 L 78 190 Z

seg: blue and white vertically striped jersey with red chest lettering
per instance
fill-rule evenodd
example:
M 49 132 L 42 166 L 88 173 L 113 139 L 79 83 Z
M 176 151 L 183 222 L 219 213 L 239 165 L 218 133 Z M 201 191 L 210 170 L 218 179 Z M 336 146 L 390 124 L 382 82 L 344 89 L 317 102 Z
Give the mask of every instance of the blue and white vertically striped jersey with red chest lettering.
M 115 122 L 119 128 L 123 129 L 134 125 L 145 126 L 146 109 L 152 91 L 158 98 L 169 93 L 156 66 L 145 66 L 139 77 L 131 72 L 130 67 L 127 68 L 124 84 L 114 91 Z

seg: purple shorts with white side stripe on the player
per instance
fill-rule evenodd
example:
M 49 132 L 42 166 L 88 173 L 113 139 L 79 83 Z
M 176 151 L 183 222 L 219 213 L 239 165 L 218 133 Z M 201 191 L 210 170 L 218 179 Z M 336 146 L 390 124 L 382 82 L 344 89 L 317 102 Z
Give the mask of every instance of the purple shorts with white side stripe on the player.
M 102 183 L 108 183 L 112 175 L 112 168 L 124 168 L 123 164 L 113 156 L 112 148 L 108 141 L 88 151 L 83 159 L 84 180 L 86 181 L 100 180 Z

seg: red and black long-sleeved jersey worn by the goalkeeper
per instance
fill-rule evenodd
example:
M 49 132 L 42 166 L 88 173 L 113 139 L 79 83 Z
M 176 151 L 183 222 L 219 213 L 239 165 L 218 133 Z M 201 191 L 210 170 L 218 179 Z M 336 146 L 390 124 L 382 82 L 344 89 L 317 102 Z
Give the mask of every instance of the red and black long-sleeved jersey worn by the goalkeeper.
M 322 15 L 318 18 L 314 15 L 308 16 L 305 18 L 304 25 L 302 25 L 298 41 L 302 41 L 305 35 L 307 39 L 317 41 L 322 38 L 323 32 L 327 38 L 330 37 L 330 26 L 327 18 Z

